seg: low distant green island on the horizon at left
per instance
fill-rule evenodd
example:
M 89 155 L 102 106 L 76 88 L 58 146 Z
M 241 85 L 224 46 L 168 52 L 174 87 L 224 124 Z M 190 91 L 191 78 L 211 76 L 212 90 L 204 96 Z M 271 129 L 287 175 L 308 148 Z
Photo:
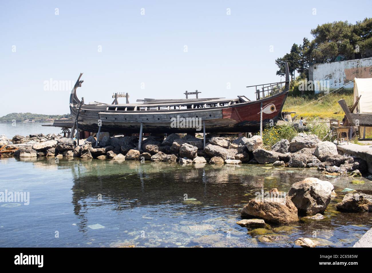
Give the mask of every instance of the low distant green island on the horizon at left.
M 32 113 L 11 113 L 0 117 L 0 122 L 53 122 L 61 118 L 71 118 L 71 114 L 64 115 L 42 115 Z

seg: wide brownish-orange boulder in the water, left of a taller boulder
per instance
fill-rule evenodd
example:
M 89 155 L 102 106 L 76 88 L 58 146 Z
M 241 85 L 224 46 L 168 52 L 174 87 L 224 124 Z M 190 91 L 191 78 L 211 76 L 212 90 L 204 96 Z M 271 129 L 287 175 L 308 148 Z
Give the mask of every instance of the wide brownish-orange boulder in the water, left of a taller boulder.
M 297 222 L 297 208 L 289 198 L 251 199 L 241 210 L 241 215 L 263 218 L 276 224 Z

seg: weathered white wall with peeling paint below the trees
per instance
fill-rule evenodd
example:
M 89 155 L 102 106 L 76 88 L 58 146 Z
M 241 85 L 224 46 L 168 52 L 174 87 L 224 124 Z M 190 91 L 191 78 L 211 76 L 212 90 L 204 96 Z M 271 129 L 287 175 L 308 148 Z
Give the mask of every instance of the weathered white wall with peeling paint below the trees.
M 335 90 L 352 81 L 354 78 L 372 78 L 372 58 L 356 59 L 327 64 L 315 64 L 309 67 L 309 80 L 314 82 L 315 93 L 328 91 L 328 87 Z M 318 82 L 319 81 L 319 82 Z M 354 83 L 350 82 L 344 88 L 353 89 Z

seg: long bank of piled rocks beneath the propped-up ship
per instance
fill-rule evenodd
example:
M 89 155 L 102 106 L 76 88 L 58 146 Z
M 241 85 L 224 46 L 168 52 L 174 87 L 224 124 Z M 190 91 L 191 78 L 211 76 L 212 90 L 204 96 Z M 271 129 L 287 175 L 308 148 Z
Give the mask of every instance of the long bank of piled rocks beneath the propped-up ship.
M 26 144 L 14 156 L 78 157 L 81 159 L 151 160 L 153 162 L 178 162 L 180 164 L 210 163 L 215 165 L 241 163 L 270 164 L 295 168 L 317 168 L 332 175 L 361 176 L 368 172 L 365 160 L 339 155 L 334 143 L 322 142 L 314 134 L 301 133 L 291 141 L 280 140 L 270 150 L 263 148 L 262 138 L 239 137 L 232 141 L 212 136 L 203 149 L 203 139 L 190 134 L 170 134 L 165 139 L 147 137 L 138 149 L 138 137 L 110 137 L 101 133 L 99 147 L 94 137 L 87 138 L 80 146 L 72 139 L 55 134 L 38 134 L 13 137 L 4 135 L 0 144 Z

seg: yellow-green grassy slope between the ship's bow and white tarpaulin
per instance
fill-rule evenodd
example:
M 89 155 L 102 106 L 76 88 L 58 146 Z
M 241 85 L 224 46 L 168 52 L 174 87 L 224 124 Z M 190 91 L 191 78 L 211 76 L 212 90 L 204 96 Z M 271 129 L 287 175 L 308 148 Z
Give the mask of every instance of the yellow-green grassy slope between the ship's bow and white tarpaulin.
M 339 103 L 337 101 L 344 99 L 346 100 L 347 105 L 353 104 L 353 94 L 330 94 L 325 97 L 320 98 L 319 100 L 311 103 L 311 101 L 316 100 L 319 97 L 315 98 L 303 98 L 303 97 L 288 97 L 285 101 L 283 111 L 296 112 L 296 115 L 302 116 L 304 118 L 321 118 L 329 119 L 336 118 L 342 120 L 344 117 L 344 112 L 342 111 Z M 311 103 L 305 107 L 302 107 L 308 103 Z M 302 107 L 300 109 L 300 107 Z M 336 113 L 337 114 L 334 114 Z M 294 115 L 292 114 L 292 117 Z M 298 117 L 299 118 L 299 117 Z

